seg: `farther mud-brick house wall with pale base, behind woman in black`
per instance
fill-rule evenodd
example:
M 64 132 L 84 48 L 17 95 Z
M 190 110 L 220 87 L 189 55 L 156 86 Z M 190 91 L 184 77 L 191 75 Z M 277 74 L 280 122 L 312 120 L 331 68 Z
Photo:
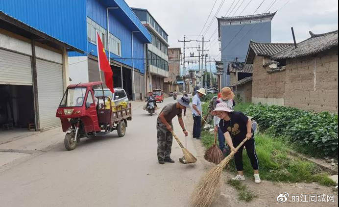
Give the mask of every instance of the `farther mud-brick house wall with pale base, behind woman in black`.
M 252 102 L 284 105 L 285 71 L 267 73 L 263 67 L 269 58 L 255 56 L 253 60 Z

